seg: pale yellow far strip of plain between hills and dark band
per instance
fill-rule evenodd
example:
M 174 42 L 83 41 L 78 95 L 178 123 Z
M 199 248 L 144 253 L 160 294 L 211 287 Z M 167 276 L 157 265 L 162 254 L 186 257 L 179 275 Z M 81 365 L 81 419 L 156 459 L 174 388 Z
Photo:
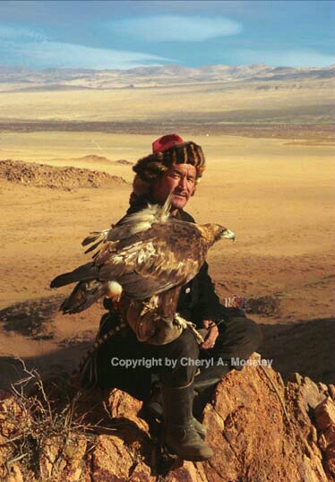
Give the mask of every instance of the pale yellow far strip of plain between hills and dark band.
M 320 106 L 335 99 L 331 81 L 236 82 L 116 90 L 2 92 L 0 120 L 141 121 L 191 113 L 218 116 L 225 111 Z M 251 87 L 250 87 L 251 85 Z M 242 119 L 241 119 L 242 120 Z M 295 120 L 295 122 L 298 119 Z

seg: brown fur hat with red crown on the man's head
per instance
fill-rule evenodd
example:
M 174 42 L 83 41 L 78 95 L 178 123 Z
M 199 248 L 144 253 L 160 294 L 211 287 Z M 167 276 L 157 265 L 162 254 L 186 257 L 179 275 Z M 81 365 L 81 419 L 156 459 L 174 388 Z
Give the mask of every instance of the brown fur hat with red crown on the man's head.
M 195 142 L 184 142 L 176 133 L 169 133 L 152 142 L 152 154 L 139 159 L 133 171 L 133 193 L 130 204 L 138 202 L 150 193 L 150 186 L 163 172 L 175 164 L 192 164 L 196 169 L 196 181 L 202 177 L 205 158 L 202 148 Z

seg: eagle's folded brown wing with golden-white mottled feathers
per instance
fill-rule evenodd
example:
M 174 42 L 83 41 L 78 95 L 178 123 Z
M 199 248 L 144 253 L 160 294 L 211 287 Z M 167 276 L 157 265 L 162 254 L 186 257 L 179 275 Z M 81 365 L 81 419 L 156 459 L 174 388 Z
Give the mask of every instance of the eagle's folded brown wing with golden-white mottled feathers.
M 107 242 L 96 258 L 99 280 L 116 280 L 127 297 L 145 299 L 192 280 L 208 245 L 193 223 L 171 219 Z

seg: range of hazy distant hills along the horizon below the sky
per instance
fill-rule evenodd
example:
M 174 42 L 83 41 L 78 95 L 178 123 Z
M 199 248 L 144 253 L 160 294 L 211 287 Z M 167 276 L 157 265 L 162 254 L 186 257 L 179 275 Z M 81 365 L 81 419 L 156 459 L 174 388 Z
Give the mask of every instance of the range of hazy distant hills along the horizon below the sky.
M 183 65 L 137 67 L 130 70 L 44 69 L 0 65 L 0 91 L 134 89 L 203 82 L 268 82 L 335 79 L 328 67 L 271 67 L 269 65 Z

